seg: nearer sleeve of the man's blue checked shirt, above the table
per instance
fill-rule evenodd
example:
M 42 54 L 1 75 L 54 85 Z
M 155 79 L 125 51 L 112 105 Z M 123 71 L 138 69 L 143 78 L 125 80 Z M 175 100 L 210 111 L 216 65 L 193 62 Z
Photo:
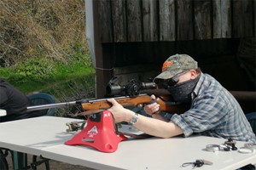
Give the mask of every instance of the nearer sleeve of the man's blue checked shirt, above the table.
M 171 121 L 183 129 L 188 137 L 192 133 L 201 133 L 217 127 L 224 122 L 227 114 L 224 100 L 218 95 L 205 95 L 197 97 L 189 111 L 181 115 L 174 114 Z

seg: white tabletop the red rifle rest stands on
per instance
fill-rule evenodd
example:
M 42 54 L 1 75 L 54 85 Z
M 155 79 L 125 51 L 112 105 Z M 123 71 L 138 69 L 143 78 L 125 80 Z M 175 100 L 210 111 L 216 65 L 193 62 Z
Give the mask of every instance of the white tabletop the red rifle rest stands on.
M 104 153 L 90 146 L 64 144 L 72 139 L 67 133 L 66 122 L 77 119 L 43 116 L 26 120 L 0 123 L 0 147 L 31 155 L 44 156 L 56 161 L 96 169 L 192 169 L 181 167 L 184 162 L 205 159 L 213 165 L 200 169 L 236 169 L 256 163 L 256 151 L 242 154 L 237 150 L 209 152 L 207 144 L 223 144 L 225 139 L 210 137 L 177 137 L 172 139 L 129 139 L 119 143 L 118 150 Z M 238 148 L 243 142 L 237 142 Z

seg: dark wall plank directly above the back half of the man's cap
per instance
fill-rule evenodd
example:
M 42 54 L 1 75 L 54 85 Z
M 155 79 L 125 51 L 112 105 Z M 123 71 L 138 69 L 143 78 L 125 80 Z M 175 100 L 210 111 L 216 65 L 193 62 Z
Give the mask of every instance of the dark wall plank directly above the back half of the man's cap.
M 177 40 L 193 40 L 193 1 L 177 1 Z

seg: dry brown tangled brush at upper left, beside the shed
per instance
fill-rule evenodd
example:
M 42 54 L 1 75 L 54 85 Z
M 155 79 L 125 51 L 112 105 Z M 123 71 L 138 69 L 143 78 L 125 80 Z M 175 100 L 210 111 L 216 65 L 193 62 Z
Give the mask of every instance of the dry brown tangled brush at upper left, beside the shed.
M 84 1 L 3 0 L 0 8 L 1 66 L 35 58 L 67 64 L 73 44 L 88 52 Z

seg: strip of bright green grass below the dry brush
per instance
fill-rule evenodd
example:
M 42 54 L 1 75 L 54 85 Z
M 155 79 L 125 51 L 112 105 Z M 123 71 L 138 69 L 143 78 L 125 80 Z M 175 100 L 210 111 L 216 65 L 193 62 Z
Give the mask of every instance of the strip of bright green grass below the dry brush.
M 5 78 L 15 88 L 27 95 L 44 92 L 61 98 L 63 92 L 68 95 L 75 88 L 84 88 L 83 91 L 88 91 L 90 97 L 94 94 L 95 71 L 90 63 L 90 56 L 73 59 L 68 65 L 46 61 L 48 68 L 44 67 L 43 61 L 37 61 L 40 65 L 27 60 L 17 67 L 0 67 L 0 77 Z M 40 68 L 42 66 L 44 68 Z M 28 67 L 32 69 L 28 70 Z

